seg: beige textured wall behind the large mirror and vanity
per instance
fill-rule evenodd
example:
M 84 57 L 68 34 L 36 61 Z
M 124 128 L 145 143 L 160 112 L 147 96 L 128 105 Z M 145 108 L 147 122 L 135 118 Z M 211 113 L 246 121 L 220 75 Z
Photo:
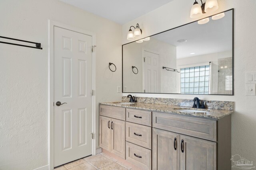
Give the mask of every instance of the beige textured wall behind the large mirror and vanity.
M 204 0 L 205 2 L 205 0 Z M 246 96 L 246 72 L 256 71 L 256 1 L 218 0 L 222 12 L 234 8 L 234 96 L 200 96 L 203 100 L 226 100 L 235 102 L 232 114 L 232 154 L 256 162 L 256 96 Z M 144 16 L 124 24 L 123 43 L 130 25 L 139 23 L 143 36 L 148 37 L 161 31 L 193 21 L 190 19 L 191 0 L 174 0 Z M 210 14 L 204 14 L 206 17 Z M 124 96 L 127 94 L 123 94 Z M 137 94 L 137 96 L 192 99 L 191 95 Z

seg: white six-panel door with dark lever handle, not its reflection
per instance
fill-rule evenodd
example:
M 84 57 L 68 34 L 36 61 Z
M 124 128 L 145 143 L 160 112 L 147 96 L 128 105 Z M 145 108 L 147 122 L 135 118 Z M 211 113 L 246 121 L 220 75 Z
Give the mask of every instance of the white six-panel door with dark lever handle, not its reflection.
M 54 27 L 54 167 L 92 154 L 91 91 L 92 37 Z

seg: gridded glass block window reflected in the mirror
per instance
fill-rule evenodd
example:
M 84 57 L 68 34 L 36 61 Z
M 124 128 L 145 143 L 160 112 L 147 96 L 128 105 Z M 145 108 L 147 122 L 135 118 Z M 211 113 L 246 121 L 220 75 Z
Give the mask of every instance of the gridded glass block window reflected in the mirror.
M 210 65 L 180 69 L 181 94 L 209 94 Z

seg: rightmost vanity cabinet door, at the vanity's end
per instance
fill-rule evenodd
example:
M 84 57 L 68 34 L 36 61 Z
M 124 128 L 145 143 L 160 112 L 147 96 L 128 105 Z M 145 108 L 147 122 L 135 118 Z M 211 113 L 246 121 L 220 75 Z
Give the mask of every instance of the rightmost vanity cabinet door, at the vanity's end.
M 180 135 L 180 170 L 216 170 L 216 143 Z

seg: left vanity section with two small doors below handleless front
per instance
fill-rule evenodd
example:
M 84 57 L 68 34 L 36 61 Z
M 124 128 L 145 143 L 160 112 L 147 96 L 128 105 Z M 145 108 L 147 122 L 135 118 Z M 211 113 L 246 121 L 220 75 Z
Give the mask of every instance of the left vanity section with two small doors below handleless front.
M 108 117 L 107 117 L 108 116 Z M 99 145 L 125 159 L 125 108 L 100 106 Z

